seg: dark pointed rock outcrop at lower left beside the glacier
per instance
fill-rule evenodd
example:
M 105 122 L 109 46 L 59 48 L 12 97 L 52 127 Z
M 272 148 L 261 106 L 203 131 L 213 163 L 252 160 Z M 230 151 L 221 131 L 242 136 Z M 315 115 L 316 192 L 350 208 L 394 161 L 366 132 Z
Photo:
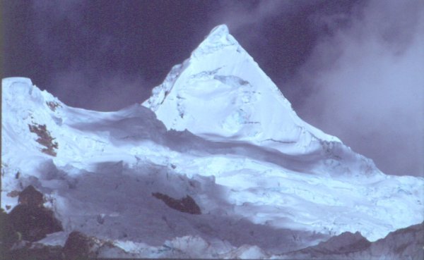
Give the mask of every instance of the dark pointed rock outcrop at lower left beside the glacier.
M 19 205 L 8 214 L 13 230 L 20 233 L 23 240 L 35 242 L 47 234 L 63 230 L 53 212 L 42 205 L 43 202 L 42 193 L 30 185 L 20 192 Z

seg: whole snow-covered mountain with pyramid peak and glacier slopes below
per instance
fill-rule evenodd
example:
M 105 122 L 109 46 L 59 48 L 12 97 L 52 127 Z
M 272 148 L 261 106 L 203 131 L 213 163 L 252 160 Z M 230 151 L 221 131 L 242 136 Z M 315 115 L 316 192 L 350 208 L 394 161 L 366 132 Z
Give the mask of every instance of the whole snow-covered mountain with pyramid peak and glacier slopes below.
M 64 229 L 45 244 L 77 230 L 131 256 L 259 258 L 424 220 L 423 178 L 302 121 L 225 25 L 143 106 L 76 109 L 28 78 L 2 94 L 1 207 L 40 190 Z

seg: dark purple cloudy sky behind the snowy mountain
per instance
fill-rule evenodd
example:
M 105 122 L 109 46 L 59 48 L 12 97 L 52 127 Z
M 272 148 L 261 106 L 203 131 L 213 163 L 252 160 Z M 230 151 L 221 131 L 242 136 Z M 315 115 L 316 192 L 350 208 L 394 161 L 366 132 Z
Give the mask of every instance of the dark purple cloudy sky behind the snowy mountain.
M 147 99 L 208 32 L 230 33 L 308 123 L 384 173 L 424 176 L 424 2 L 1 1 L 2 78 L 70 106 Z

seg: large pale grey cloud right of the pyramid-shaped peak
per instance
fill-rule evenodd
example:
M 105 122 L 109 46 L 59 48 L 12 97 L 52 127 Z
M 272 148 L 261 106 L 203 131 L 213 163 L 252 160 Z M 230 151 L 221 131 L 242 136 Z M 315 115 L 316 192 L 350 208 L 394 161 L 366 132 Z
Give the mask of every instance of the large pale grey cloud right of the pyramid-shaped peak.
M 290 82 L 302 118 L 374 159 L 384 173 L 424 175 L 424 4 L 369 1 L 331 33 Z

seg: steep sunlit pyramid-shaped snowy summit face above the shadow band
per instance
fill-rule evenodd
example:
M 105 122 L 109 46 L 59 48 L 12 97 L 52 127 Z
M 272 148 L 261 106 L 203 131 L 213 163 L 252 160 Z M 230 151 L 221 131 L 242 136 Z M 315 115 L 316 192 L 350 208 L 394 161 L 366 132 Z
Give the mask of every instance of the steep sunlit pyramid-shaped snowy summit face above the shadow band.
M 187 129 L 305 153 L 336 137 L 302 121 L 271 79 L 228 32 L 215 27 L 192 56 L 172 68 L 143 106 L 168 129 Z

